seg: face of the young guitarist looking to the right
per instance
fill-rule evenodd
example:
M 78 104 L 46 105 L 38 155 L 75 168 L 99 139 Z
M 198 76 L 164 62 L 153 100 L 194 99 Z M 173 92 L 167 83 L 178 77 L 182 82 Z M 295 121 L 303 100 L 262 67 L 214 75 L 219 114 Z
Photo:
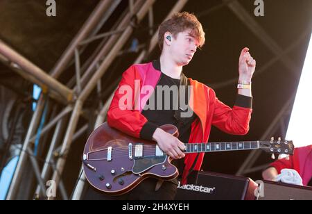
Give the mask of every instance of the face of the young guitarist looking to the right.
M 172 38 L 170 53 L 177 65 L 184 66 L 191 62 L 197 47 L 198 40 L 191 35 L 191 30 L 187 30 Z

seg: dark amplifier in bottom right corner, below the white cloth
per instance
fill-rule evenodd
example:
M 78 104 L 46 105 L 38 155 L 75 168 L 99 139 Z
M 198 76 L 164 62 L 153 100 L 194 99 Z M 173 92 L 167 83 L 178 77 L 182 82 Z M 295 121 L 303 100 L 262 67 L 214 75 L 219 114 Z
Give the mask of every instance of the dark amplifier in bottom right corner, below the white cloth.
M 312 188 L 288 183 L 263 181 L 258 200 L 312 200 Z

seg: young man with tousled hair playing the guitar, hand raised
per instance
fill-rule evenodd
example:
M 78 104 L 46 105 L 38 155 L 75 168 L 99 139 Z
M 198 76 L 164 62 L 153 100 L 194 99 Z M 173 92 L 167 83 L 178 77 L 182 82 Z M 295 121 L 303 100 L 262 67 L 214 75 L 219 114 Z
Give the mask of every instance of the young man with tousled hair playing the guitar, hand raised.
M 197 49 L 204 43 L 205 33 L 195 15 L 176 13 L 163 22 L 159 26 L 159 47 L 162 51 L 159 60 L 132 65 L 127 69 L 107 112 L 107 123 L 111 127 L 135 138 L 154 141 L 165 154 L 173 158 L 182 183 L 189 181 L 191 172 L 200 170 L 204 158 L 202 153 L 184 154 L 184 143 L 208 142 L 212 125 L 225 133 L 245 135 L 249 130 L 252 113 L 251 79 L 256 62 L 248 48 L 244 48 L 239 57 L 239 89 L 233 108 L 219 101 L 214 90 L 207 85 L 183 74 L 182 67 L 190 63 Z M 180 88 L 180 93 L 165 92 L 165 96 L 162 96 L 162 86 L 167 89 Z M 187 90 L 181 90 L 180 86 L 187 86 Z M 132 92 L 127 94 L 130 99 L 125 101 L 127 88 L 132 89 Z M 173 101 L 176 98 L 178 102 Z M 168 104 L 168 100 L 173 103 Z M 177 126 L 180 135 L 175 137 L 159 129 L 164 124 Z M 119 197 L 105 196 L 89 188 L 87 199 L 174 199 L 176 190 L 176 179 L 160 181 L 148 178 Z

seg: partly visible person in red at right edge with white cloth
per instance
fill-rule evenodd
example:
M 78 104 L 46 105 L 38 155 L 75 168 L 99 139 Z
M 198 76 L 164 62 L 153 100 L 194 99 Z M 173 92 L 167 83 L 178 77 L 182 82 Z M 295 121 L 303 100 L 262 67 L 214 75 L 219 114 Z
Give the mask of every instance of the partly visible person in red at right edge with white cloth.
M 282 174 L 283 170 L 288 173 Z M 312 145 L 295 148 L 293 156 L 271 163 L 270 167 L 263 171 L 262 176 L 268 181 L 277 181 L 280 177 L 284 183 L 295 183 L 300 180 L 299 183 L 304 186 L 312 186 Z

